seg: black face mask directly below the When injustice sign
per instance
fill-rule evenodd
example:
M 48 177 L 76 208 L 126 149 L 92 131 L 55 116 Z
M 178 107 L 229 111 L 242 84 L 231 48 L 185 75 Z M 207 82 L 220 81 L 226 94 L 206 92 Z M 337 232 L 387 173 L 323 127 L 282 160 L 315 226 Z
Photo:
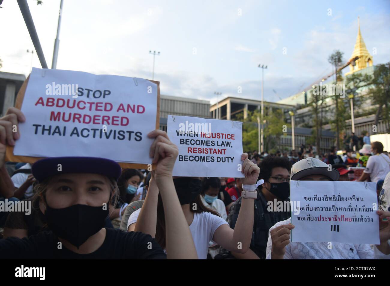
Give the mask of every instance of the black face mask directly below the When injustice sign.
M 202 189 L 202 181 L 191 178 L 177 178 L 173 179 L 177 197 L 181 205 L 191 204 L 195 201 Z

